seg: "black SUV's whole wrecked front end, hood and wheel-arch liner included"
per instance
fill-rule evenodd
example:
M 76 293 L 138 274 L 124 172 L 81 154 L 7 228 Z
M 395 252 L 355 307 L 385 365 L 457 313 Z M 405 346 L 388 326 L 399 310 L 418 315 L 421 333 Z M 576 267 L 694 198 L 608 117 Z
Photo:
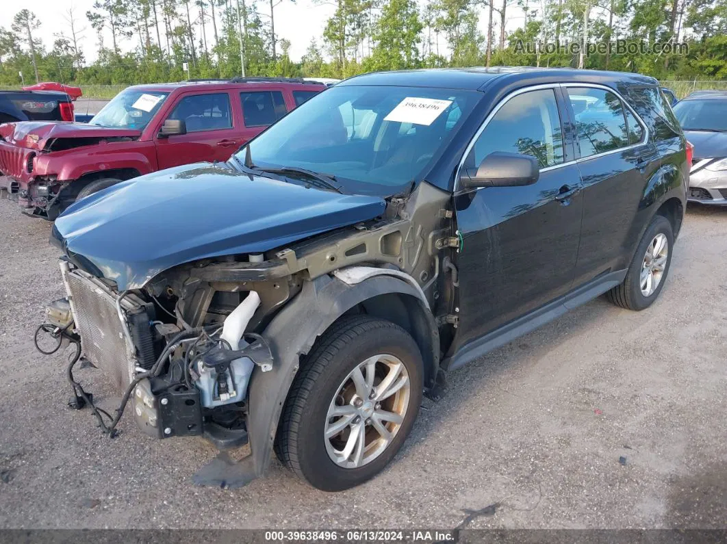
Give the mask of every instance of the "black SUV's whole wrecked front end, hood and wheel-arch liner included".
M 425 389 L 435 389 L 440 332 L 448 339 L 454 332 L 438 327 L 437 314 L 456 306 L 441 264 L 454 251 L 443 242 L 454 235 L 446 192 L 424 183 L 406 198 L 383 200 L 257 179 L 251 200 L 239 174 L 185 172 L 209 176 L 212 194 L 226 198 L 205 206 L 212 196 L 187 188 L 191 174 L 169 176 L 159 209 L 184 206 L 188 192 L 210 211 L 169 214 L 153 239 L 134 209 L 141 185 L 133 181 L 92 195 L 55 224 L 53 238 L 66 253 L 67 333 L 123 394 L 116 413 L 99 410 L 105 432 L 113 436 L 128 404 L 153 437 L 204 436 L 220 450 L 249 442 L 237 482 L 262 476 L 301 361 L 351 313 L 410 330 L 425 360 Z M 149 198 L 143 207 L 148 217 Z M 113 232 L 124 239 L 111 247 L 104 240 Z M 47 329 L 68 325 L 60 321 Z M 72 370 L 75 404 L 96 410 Z

